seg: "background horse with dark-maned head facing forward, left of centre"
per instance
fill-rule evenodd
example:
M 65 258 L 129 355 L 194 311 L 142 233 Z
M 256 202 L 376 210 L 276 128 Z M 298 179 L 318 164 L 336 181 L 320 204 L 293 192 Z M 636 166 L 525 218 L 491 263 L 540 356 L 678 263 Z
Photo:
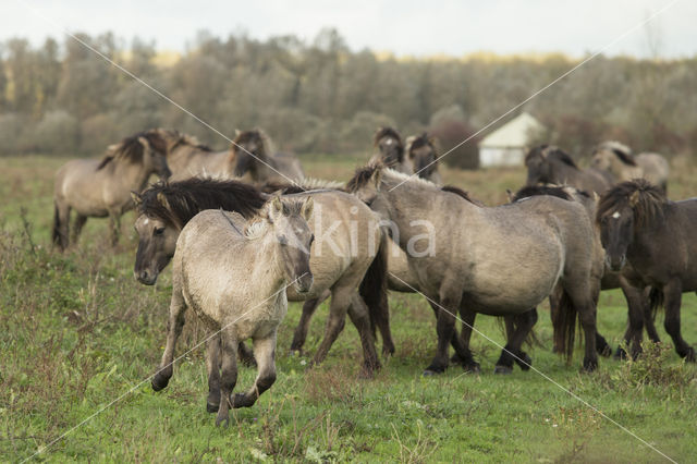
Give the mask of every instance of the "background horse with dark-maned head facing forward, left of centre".
M 271 139 L 260 129 L 239 132 L 230 150 L 229 170 L 236 178 L 259 183 L 299 182 L 305 178 L 299 160 L 290 154 L 276 152 Z

